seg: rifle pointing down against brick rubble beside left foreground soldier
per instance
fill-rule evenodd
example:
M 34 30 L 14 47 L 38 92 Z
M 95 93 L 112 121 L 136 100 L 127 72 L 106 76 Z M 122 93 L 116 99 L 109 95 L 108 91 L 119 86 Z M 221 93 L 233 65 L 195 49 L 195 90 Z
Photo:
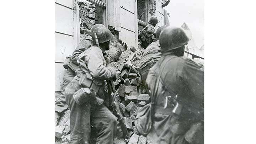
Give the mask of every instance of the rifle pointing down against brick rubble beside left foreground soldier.
M 129 136 L 128 130 L 124 124 L 124 118 L 119 109 L 119 101 L 117 98 L 117 97 L 119 97 L 119 95 L 115 90 L 113 80 L 108 80 L 107 85 L 108 85 L 108 95 L 109 95 L 109 99 L 111 102 L 111 107 L 114 109 L 114 111 L 117 114 L 119 124 L 121 125 L 122 131 L 123 131 L 124 142 L 127 143 L 128 140 L 130 139 L 130 136 Z

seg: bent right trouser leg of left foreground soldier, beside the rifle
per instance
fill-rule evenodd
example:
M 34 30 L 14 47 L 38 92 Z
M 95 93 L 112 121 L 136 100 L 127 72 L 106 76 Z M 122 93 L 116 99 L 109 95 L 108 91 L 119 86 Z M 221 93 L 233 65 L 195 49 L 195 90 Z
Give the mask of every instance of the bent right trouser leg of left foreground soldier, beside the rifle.
M 105 105 L 97 106 L 92 111 L 91 123 L 96 127 L 98 133 L 96 144 L 113 144 L 117 119 Z

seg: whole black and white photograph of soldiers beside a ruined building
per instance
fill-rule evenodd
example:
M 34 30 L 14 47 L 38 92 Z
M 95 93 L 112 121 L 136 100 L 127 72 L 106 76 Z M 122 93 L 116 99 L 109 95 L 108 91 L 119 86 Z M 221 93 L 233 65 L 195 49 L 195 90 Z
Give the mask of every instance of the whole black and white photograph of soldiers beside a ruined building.
M 55 20 L 56 144 L 204 143 L 203 0 L 56 0 Z

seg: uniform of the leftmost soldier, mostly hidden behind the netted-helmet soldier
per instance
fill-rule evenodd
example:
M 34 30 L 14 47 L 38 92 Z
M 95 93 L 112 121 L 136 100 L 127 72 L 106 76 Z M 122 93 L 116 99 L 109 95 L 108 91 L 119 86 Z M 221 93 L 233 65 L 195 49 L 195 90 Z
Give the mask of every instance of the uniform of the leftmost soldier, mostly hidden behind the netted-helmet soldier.
M 67 70 L 63 77 L 63 84 L 61 86 L 61 93 L 60 93 L 59 101 L 57 101 L 55 103 L 55 111 L 61 113 L 61 112 L 64 112 L 68 108 L 68 105 L 66 104 L 66 101 L 65 101 L 65 95 L 64 95 L 65 87 L 70 83 L 71 80 L 73 80 L 73 78 L 76 75 L 75 71 L 78 68 L 77 60 L 78 60 L 80 54 L 91 46 L 92 46 L 91 39 L 83 39 L 78 44 L 78 46 L 76 47 L 74 52 L 72 53 L 72 56 L 68 57 L 68 59 L 70 59 L 70 62 L 68 62 L 66 64 Z M 115 53 L 113 53 L 110 56 L 107 55 L 106 53 L 104 53 L 104 57 L 109 57 L 110 62 L 116 62 L 119 59 L 119 57 L 121 56 L 121 54 L 122 54 L 121 50 L 118 49 Z

